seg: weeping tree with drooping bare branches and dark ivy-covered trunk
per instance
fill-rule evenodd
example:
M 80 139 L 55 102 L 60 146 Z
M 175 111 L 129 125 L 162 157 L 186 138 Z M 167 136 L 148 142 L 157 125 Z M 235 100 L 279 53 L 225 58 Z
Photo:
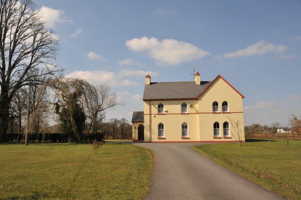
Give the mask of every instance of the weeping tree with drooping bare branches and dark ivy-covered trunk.
M 45 124 L 40 126 L 39 132 L 45 135 L 47 123 L 53 120 L 61 124 L 62 131 L 68 134 L 69 142 L 80 141 L 86 119 L 84 107 L 91 106 L 89 104 L 97 96 L 95 87 L 81 78 L 56 78 L 46 81 L 36 96 L 36 101 L 43 103 L 31 113 L 25 134 L 34 132 L 36 123 L 43 115 L 42 122 Z

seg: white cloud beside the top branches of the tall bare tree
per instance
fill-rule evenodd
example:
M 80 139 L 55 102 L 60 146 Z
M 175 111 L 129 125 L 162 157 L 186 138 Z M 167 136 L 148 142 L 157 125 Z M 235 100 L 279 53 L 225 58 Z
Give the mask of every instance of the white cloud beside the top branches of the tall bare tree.
M 42 6 L 40 11 L 43 14 L 43 21 L 45 21 L 46 26 L 50 28 L 53 28 L 55 23 L 73 22 L 73 20 L 70 20 L 65 16 L 65 12 L 62 10 L 55 10 Z

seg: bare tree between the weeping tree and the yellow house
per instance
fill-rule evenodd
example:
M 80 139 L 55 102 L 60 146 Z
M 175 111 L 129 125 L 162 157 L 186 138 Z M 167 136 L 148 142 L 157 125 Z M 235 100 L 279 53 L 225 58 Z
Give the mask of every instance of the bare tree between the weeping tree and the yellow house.
M 96 91 L 98 95 L 95 96 L 95 99 L 91 99 L 91 102 L 85 105 L 86 117 L 90 121 L 88 133 L 90 133 L 92 126 L 94 126 L 93 131 L 97 131 L 97 125 L 104 119 L 104 111 L 106 109 L 113 109 L 115 106 L 124 105 L 122 102 L 117 101 L 116 93 L 112 92 L 108 85 L 97 85 Z

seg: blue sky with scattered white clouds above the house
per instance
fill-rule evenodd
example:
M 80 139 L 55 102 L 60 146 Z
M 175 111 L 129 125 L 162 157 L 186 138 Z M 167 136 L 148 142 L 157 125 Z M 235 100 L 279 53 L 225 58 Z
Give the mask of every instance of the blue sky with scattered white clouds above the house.
M 301 1 L 35 0 L 61 37 L 56 63 L 66 76 L 107 83 L 131 120 L 153 82 L 218 74 L 244 98 L 245 125 L 287 125 L 301 113 Z

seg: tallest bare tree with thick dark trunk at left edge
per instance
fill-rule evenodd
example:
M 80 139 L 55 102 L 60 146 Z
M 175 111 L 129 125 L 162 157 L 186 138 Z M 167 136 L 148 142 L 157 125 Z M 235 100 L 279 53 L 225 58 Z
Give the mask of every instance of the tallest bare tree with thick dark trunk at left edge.
M 45 74 L 61 72 L 56 58 L 59 38 L 45 27 L 31 0 L 0 0 L 0 142 L 5 141 L 9 106 L 17 90 Z M 45 71 L 27 74 L 35 67 Z

